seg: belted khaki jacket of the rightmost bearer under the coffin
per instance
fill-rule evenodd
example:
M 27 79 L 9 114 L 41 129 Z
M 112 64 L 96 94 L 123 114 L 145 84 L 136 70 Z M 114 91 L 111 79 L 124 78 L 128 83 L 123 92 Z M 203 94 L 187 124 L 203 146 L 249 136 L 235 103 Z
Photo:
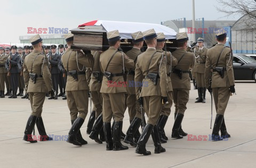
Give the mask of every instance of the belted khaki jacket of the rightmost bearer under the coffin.
M 182 55 L 185 53 L 183 58 L 180 60 Z M 194 53 L 187 52 L 185 49 L 177 49 L 172 52 L 172 55 L 180 62 L 175 69 L 182 69 L 183 71 L 189 71 L 190 68 L 194 68 L 195 55 Z M 174 68 L 174 67 L 173 67 Z M 177 74 L 171 73 L 172 87 L 173 89 L 188 89 L 190 90 L 190 78 L 188 73 L 182 74 L 182 79 Z

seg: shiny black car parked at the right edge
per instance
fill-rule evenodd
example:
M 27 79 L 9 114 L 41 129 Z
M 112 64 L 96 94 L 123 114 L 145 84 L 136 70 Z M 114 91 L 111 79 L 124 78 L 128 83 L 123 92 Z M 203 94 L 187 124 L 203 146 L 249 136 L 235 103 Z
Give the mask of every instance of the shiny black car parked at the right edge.
M 233 56 L 235 80 L 254 80 L 256 82 L 256 60 L 244 54 L 234 54 Z

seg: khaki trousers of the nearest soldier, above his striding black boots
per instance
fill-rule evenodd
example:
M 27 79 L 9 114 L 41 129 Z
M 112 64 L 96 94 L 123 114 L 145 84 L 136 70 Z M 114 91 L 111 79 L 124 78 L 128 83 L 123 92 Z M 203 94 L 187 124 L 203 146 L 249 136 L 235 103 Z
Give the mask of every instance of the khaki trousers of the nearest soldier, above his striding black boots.
M 147 124 L 156 125 L 161 113 L 162 102 L 160 95 L 143 97 L 143 107 L 148 116 Z

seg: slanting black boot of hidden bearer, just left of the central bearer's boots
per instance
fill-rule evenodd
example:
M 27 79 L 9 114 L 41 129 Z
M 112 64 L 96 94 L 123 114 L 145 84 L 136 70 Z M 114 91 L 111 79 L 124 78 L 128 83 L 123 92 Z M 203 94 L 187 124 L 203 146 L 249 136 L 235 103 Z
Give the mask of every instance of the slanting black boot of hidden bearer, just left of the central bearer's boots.
M 94 123 L 92 127 L 92 132 L 90 134 L 90 138 L 93 139 L 97 143 L 102 143 L 102 141 L 99 139 L 99 133 L 103 126 L 103 119 L 102 119 L 102 113 L 100 116 L 96 119 L 96 122 Z

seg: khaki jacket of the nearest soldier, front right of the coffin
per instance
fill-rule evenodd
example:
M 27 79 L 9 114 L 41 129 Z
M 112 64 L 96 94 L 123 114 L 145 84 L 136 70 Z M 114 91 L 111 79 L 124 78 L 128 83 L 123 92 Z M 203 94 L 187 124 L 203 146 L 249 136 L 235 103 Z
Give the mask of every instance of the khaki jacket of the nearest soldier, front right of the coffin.
M 166 57 L 163 53 L 155 52 L 155 48 L 148 48 L 138 56 L 134 77 L 137 99 L 151 95 L 167 97 L 168 79 L 166 75 Z M 155 55 L 150 61 L 154 53 Z M 145 78 L 148 65 L 150 65 L 148 69 L 149 73 L 159 74 L 160 78 L 157 79 L 157 85 L 154 85 L 149 78 Z M 140 89 L 141 93 L 139 93 Z

